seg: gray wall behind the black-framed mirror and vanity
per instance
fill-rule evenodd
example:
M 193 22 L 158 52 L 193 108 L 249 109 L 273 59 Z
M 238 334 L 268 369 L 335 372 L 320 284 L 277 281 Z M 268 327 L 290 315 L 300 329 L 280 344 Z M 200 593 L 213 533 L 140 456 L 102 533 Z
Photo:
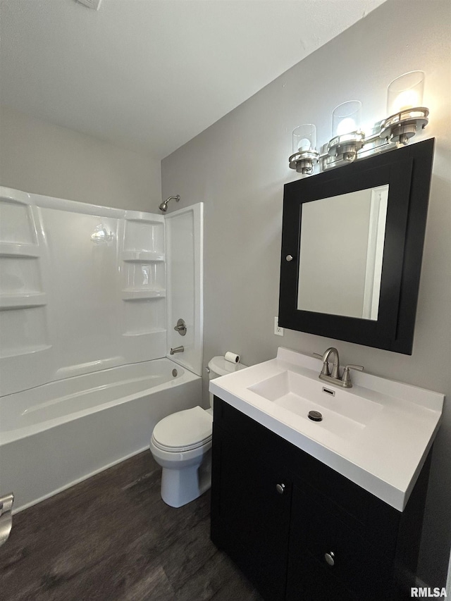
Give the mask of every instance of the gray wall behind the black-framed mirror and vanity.
M 173 209 L 205 203 L 204 364 L 227 350 L 255 364 L 274 357 L 278 345 L 311 353 L 333 344 L 343 362 L 451 397 L 449 24 L 448 0 L 388 0 L 162 161 L 163 197 L 182 197 Z M 416 69 L 426 72 L 431 109 L 419 139 L 437 140 L 412 357 L 288 330 L 273 335 L 283 184 L 297 178 L 288 169 L 292 129 L 316 123 L 326 142 L 334 106 L 355 98 L 364 120 L 382 118 L 390 80 Z M 448 403 L 419 574 L 433 586 L 445 585 L 450 550 L 450 458 Z

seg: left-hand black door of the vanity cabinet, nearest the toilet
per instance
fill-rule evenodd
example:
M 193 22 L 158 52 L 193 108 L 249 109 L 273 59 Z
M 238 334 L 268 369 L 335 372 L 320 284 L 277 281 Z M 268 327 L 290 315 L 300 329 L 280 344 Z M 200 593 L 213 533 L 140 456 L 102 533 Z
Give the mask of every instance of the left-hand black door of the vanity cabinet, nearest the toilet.
M 271 454 L 218 427 L 214 464 L 213 542 L 265 599 L 284 599 L 292 490 L 288 474 Z

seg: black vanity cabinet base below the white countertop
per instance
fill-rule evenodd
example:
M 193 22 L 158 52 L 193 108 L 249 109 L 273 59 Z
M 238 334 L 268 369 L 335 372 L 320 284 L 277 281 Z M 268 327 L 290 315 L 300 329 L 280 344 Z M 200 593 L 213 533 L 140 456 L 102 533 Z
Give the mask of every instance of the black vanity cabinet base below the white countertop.
M 215 397 L 211 540 L 265 600 L 410 598 L 428 464 L 401 513 Z

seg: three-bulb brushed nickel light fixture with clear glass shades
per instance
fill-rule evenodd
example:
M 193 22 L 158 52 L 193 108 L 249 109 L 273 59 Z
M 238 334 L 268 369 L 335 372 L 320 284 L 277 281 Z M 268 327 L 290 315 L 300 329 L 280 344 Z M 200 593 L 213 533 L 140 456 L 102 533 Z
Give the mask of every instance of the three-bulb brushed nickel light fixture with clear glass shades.
M 429 111 L 423 102 L 424 72 L 410 71 L 388 85 L 387 118 L 377 121 L 366 134 L 360 129 L 362 103 L 343 102 L 333 109 L 332 138 L 316 150 L 316 127 L 311 123 L 298 125 L 292 133 L 290 169 L 302 175 L 312 175 L 316 163 L 320 171 L 340 167 L 367 156 L 409 143 L 417 131 L 428 124 Z

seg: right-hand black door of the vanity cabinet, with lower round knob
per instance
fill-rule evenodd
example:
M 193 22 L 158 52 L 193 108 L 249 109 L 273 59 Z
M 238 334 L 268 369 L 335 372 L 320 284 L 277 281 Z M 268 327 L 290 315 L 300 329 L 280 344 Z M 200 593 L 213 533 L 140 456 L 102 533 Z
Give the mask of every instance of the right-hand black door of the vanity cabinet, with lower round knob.
M 335 588 L 340 599 L 394 598 L 390 554 L 352 530 L 344 512 L 313 489 L 295 486 L 293 504 L 288 599 L 301 599 L 305 592 L 312 601 L 322 601 L 327 598 L 323 590 Z

